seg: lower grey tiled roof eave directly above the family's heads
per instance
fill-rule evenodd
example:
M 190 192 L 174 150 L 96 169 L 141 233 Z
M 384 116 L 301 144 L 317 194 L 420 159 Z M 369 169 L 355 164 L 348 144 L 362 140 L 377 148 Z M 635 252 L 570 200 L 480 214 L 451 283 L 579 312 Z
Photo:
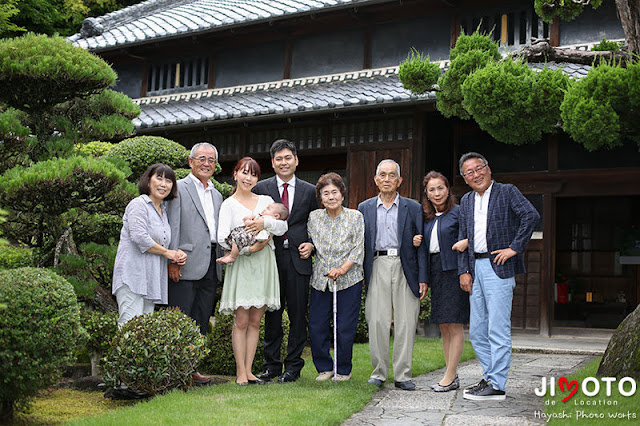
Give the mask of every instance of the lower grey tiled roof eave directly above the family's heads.
M 543 64 L 530 64 L 542 69 Z M 584 77 L 589 66 L 548 63 L 572 78 Z M 447 63 L 441 63 L 443 69 Z M 435 102 L 429 92 L 417 96 L 402 88 L 398 67 L 379 68 L 328 76 L 282 80 L 200 92 L 177 93 L 136 99 L 140 116 L 133 120 L 139 130 L 183 127 L 204 123 L 276 118 L 381 105 Z

